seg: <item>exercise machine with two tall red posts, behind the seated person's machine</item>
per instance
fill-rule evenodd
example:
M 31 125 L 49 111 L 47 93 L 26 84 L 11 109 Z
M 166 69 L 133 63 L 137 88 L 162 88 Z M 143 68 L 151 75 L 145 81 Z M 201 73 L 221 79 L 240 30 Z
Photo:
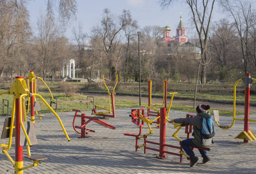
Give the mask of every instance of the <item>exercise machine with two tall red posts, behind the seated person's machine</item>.
M 159 128 L 160 120 L 160 110 L 157 110 L 155 107 L 152 106 L 164 106 L 167 107 L 167 79 L 163 81 L 163 103 L 152 103 L 152 80 L 149 79 L 149 106 L 147 108 L 147 115 L 157 117 L 156 121 L 154 122 L 157 124 L 157 128 Z M 154 110 L 154 111 L 152 111 Z

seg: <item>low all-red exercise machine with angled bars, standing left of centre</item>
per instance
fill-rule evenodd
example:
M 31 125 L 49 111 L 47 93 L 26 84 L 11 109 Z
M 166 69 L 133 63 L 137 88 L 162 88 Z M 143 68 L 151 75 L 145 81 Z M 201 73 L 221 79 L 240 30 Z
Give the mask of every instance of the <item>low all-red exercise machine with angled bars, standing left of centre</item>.
M 77 113 L 81 113 L 81 110 L 74 110 L 73 109 L 72 111 L 75 111 L 75 115 L 74 115 L 74 119 L 73 119 L 73 128 L 74 128 L 75 132 L 81 133 L 80 138 L 85 138 L 85 134 L 87 135 L 88 132 L 95 132 L 92 129 L 86 129 L 85 128 L 85 126 L 91 121 L 96 122 L 99 125 L 102 125 L 106 128 L 116 129 L 116 127 L 111 126 L 110 124 L 107 124 L 106 122 L 100 120 L 99 118 L 89 117 L 89 116 L 86 116 L 85 114 L 78 115 Z M 81 126 L 75 126 L 75 118 L 76 117 L 81 118 Z M 88 119 L 88 121 L 85 120 L 86 118 Z M 77 131 L 77 129 L 81 129 L 81 131 Z

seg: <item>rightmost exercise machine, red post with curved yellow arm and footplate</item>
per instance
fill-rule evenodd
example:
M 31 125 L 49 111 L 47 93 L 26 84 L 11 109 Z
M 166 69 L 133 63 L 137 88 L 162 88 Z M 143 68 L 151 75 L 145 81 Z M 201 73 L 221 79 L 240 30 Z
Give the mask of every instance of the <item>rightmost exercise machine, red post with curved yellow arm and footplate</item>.
M 245 99 L 244 99 L 244 118 L 236 118 L 236 85 L 240 82 L 243 81 L 245 87 Z M 249 113 L 250 113 L 250 86 L 251 82 L 256 81 L 255 78 L 251 78 L 250 74 L 246 74 L 245 78 L 241 78 L 238 81 L 236 81 L 234 85 L 234 90 L 233 90 L 233 121 L 231 125 L 221 125 L 218 123 L 219 121 L 219 114 L 218 111 L 214 111 L 214 119 L 216 124 L 219 126 L 221 129 L 230 129 L 232 126 L 235 124 L 235 121 L 244 121 L 244 131 L 239 133 L 235 138 L 238 139 L 243 139 L 244 143 L 248 143 L 248 140 L 253 141 L 256 140 L 256 137 L 254 133 L 250 130 L 249 131 L 249 121 L 251 122 L 256 122 L 256 119 L 250 119 L 249 118 Z

